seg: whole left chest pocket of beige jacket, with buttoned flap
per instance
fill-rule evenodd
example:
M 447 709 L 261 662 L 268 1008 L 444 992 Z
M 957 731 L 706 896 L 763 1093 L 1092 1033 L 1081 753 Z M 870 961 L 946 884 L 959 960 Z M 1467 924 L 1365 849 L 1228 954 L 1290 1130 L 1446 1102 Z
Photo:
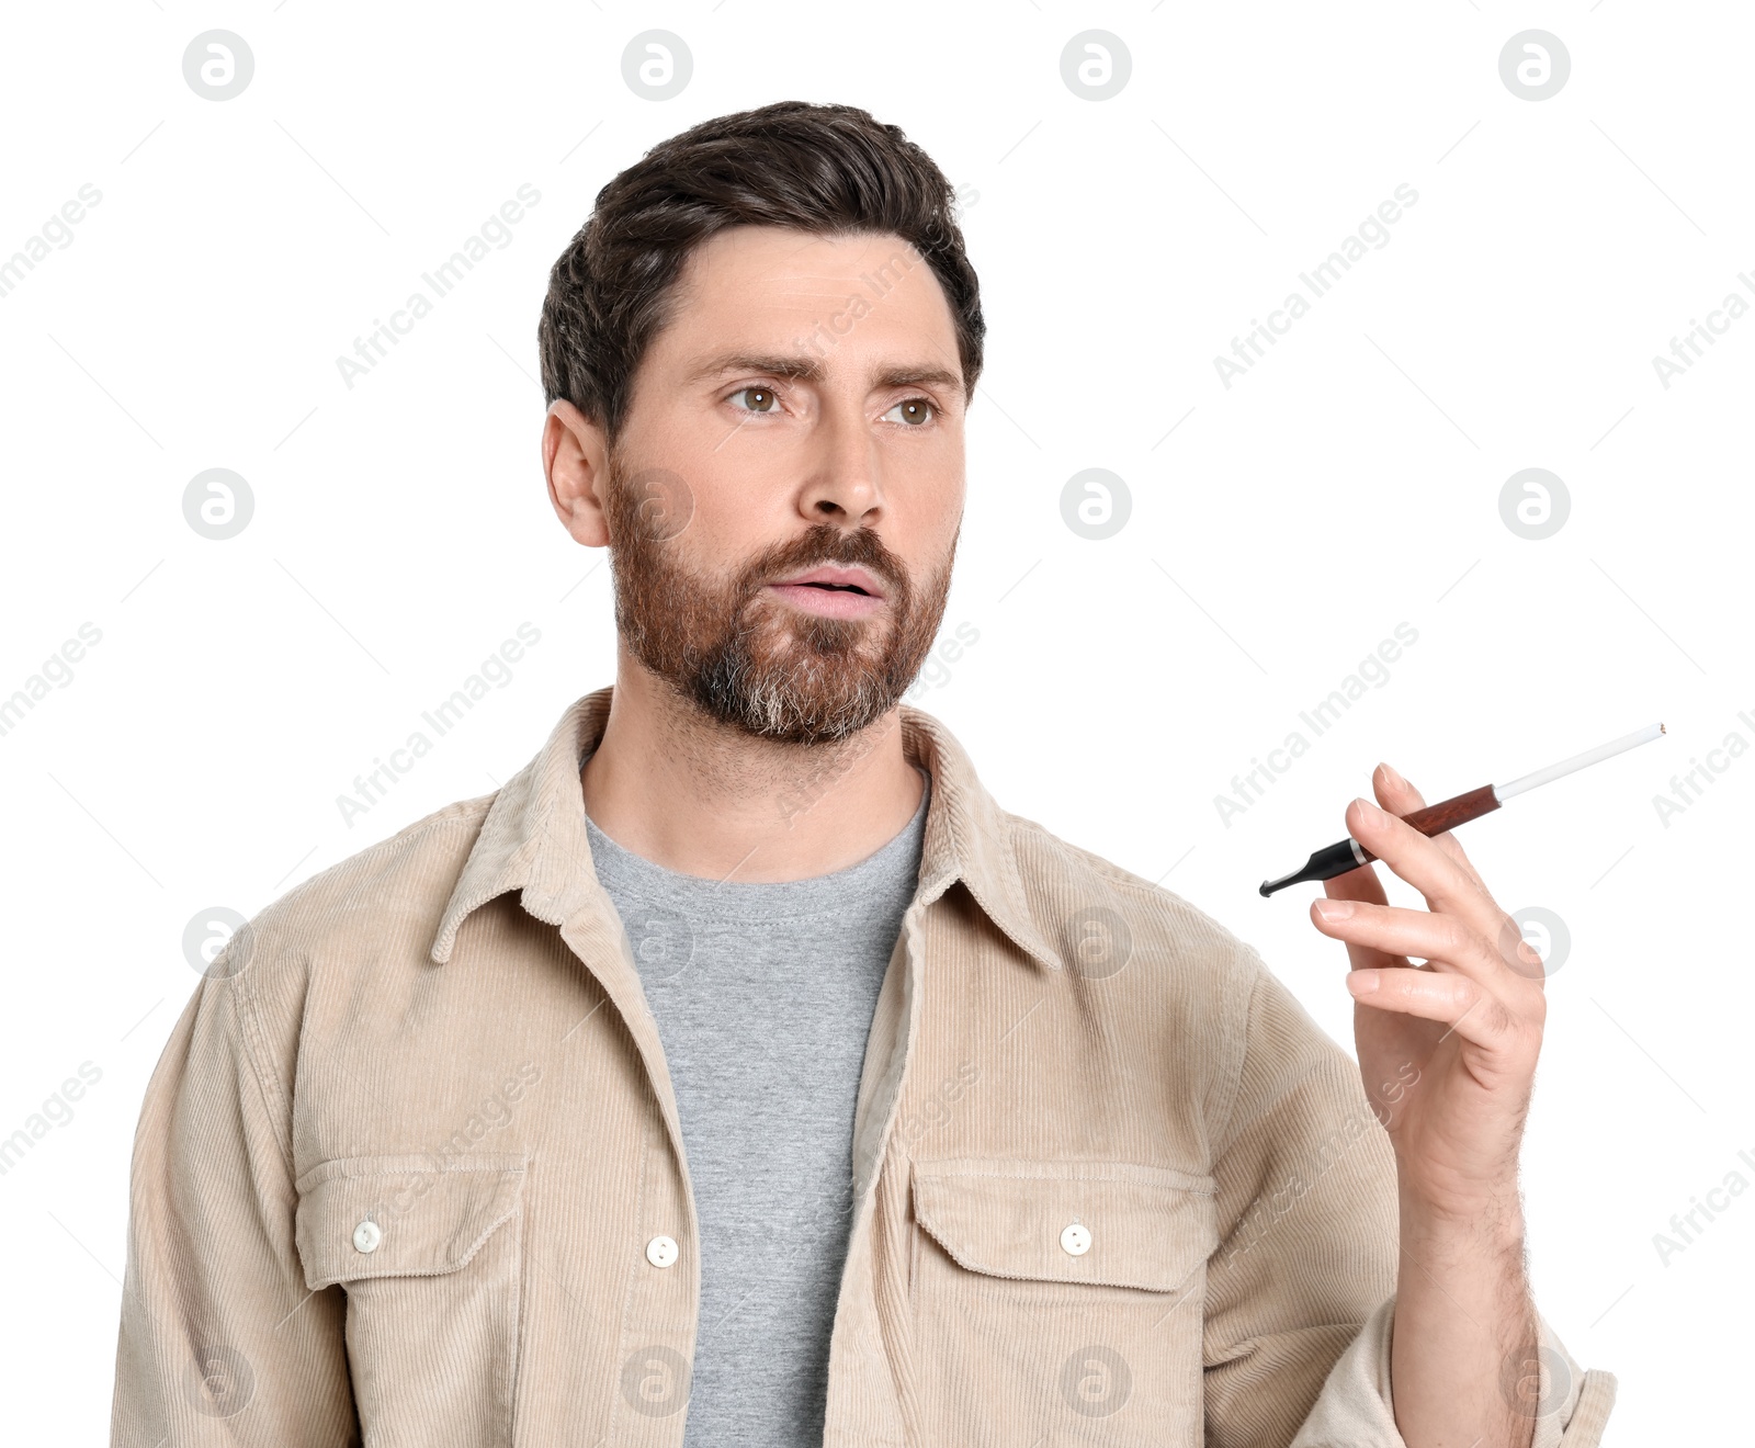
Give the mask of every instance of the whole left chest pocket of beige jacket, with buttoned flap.
M 525 1158 L 346 1157 L 298 1183 L 305 1287 L 347 1292 L 363 1448 L 509 1448 Z

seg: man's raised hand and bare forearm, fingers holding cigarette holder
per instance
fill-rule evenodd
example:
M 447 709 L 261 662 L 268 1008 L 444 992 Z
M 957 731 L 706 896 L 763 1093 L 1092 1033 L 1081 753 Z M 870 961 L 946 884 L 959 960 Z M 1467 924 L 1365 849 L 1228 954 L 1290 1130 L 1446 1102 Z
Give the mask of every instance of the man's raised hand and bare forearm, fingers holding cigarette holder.
M 1518 1143 L 1546 1014 L 1541 957 L 1450 834 L 1395 818 L 1425 804 L 1420 792 L 1386 763 L 1372 788 L 1383 807 L 1353 800 L 1348 832 L 1427 909 L 1388 906 L 1365 865 L 1327 881 L 1311 920 L 1346 943 L 1358 1069 L 1395 1148 L 1395 1422 L 1411 1448 L 1523 1448 L 1534 1418 L 1518 1366 L 1536 1320 Z

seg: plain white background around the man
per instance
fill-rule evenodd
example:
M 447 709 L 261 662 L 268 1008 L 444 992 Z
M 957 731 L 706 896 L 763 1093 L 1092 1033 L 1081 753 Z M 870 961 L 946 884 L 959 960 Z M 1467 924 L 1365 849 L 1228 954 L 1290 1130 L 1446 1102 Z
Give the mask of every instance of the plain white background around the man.
M 1102 102 L 1060 75 L 1093 26 L 1132 56 Z M 211 28 L 254 56 L 225 102 L 183 74 Z M 693 56 L 665 102 L 621 75 L 648 28 Z M 1527 28 L 1571 54 L 1548 100 L 1501 81 Z M 132 1134 L 200 979 L 184 927 L 495 788 L 611 681 L 609 570 L 539 470 L 549 263 L 662 137 L 807 98 L 904 126 L 965 188 L 990 335 L 946 628 L 979 642 L 914 702 L 1009 809 L 1214 914 L 1351 1044 L 1314 890 L 1255 886 L 1344 834 L 1371 767 L 1439 799 L 1669 725 L 1462 837 L 1506 907 L 1571 932 L 1525 1146 L 1537 1301 L 1618 1373 L 1611 1443 L 1743 1439 L 1755 1192 L 1667 1262 L 1653 1234 L 1755 1183 L 1755 756 L 1667 823 L 1653 797 L 1755 742 L 1755 319 L 1669 388 L 1651 360 L 1755 302 L 1751 30 L 1634 0 L 9 7 L 0 256 L 82 184 L 102 202 L 0 298 L 0 697 L 79 625 L 102 641 L 0 737 L 0 1136 L 81 1062 L 102 1079 L 0 1176 L 30 1304 L 7 1436 L 23 1413 L 32 1441 L 107 1441 Z M 511 242 L 347 388 L 335 358 L 523 183 Z M 1225 388 L 1214 355 L 1402 183 L 1388 244 Z M 183 514 L 212 467 L 254 498 L 228 541 Z M 1088 467 L 1132 497 L 1100 542 L 1060 513 Z M 1499 513 L 1527 467 L 1571 497 L 1544 541 Z M 512 681 L 344 823 L 337 795 L 526 621 Z M 1232 776 L 1404 621 L 1388 683 L 1223 821 Z

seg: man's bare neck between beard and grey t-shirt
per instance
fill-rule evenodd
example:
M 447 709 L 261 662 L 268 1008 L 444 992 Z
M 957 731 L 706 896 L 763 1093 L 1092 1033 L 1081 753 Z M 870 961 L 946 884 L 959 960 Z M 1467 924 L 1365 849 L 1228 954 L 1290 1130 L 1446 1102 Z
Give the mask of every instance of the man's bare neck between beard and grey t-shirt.
M 623 648 L 584 809 L 623 849 L 707 879 L 806 879 L 881 849 L 920 806 L 900 707 L 834 744 L 704 716 Z

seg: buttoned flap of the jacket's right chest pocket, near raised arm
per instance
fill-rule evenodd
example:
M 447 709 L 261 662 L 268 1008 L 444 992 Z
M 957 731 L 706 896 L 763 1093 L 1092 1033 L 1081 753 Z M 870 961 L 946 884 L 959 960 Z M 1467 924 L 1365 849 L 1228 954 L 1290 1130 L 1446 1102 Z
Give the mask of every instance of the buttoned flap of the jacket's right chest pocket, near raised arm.
M 914 1162 L 914 1218 L 972 1272 L 1174 1292 L 1218 1246 L 1211 1176 L 1134 1162 Z M 1067 1227 L 1083 1227 L 1064 1243 Z

